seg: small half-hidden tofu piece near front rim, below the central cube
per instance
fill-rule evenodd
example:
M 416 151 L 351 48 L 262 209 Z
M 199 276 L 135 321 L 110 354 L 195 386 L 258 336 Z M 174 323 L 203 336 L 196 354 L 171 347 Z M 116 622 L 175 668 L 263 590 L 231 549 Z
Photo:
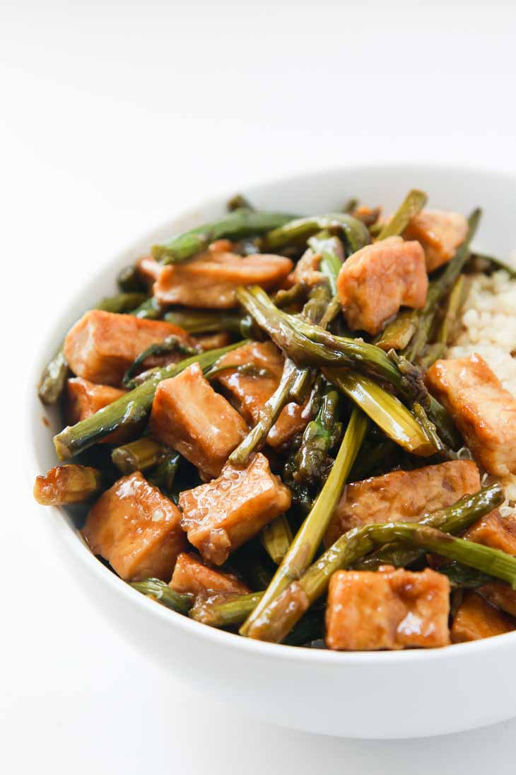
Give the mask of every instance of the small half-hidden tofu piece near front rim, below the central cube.
M 246 594 L 251 590 L 234 574 L 222 574 L 220 570 L 214 570 L 201 563 L 193 554 L 182 552 L 179 554 L 172 581 L 169 584 L 179 594 L 210 594 L 224 592 L 234 594 Z

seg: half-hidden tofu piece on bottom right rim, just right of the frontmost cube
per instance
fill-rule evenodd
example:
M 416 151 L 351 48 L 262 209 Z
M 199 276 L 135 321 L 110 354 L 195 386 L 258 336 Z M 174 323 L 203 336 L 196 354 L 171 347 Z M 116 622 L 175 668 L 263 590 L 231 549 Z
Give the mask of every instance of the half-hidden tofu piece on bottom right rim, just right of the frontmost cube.
M 512 632 L 516 623 L 509 616 L 489 605 L 480 594 L 466 592 L 451 629 L 453 643 L 490 638 Z

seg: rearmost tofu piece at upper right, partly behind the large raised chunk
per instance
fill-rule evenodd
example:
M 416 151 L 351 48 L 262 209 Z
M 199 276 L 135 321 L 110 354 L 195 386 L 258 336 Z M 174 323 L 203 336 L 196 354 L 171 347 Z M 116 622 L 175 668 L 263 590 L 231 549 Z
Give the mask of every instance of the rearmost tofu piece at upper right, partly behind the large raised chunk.
M 404 236 L 421 243 L 426 269 L 432 272 L 453 258 L 466 239 L 467 229 L 466 219 L 458 212 L 422 210 L 410 219 Z

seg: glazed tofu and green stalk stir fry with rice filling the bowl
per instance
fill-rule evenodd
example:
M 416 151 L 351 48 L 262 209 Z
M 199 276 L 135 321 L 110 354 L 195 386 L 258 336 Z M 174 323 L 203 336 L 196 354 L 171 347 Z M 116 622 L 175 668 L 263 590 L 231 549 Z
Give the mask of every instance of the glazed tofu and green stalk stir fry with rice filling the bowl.
M 158 605 L 289 646 L 516 630 L 516 273 L 480 211 L 261 212 L 152 246 L 41 378 L 36 500 Z

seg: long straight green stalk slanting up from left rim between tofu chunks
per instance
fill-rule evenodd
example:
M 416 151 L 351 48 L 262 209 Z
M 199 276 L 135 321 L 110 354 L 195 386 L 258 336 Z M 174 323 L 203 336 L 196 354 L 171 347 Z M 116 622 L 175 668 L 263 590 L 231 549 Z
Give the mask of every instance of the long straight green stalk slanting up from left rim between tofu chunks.
M 218 350 L 208 350 L 206 353 L 190 356 L 179 363 L 170 363 L 169 366 L 156 370 L 147 381 L 135 387 L 135 390 L 54 436 L 54 445 L 60 460 L 77 455 L 118 428 L 136 427 L 138 422 L 149 414 L 155 389 L 162 380 L 176 377 L 192 363 L 199 363 L 203 370 L 207 370 L 221 356 L 244 344 L 247 344 L 245 340 L 220 347 Z

